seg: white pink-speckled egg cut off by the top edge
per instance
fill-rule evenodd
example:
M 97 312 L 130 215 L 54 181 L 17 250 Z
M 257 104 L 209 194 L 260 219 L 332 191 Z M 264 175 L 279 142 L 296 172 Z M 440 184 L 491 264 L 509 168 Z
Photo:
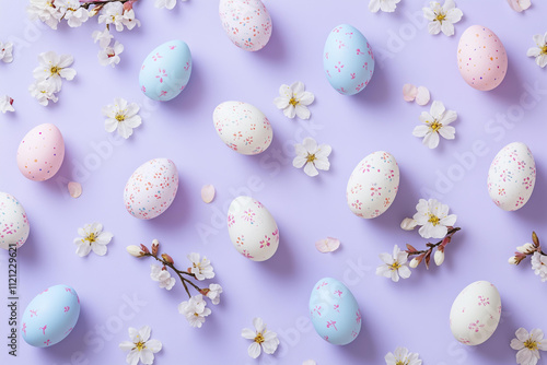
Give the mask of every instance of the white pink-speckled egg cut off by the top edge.
M 228 37 L 241 49 L 260 50 L 270 40 L 271 17 L 260 0 L 220 0 L 219 13 Z

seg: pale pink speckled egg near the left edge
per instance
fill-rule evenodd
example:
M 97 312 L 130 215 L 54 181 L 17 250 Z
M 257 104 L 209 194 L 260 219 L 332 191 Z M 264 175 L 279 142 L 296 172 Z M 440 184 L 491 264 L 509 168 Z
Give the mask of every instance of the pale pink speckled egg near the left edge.
M 21 174 L 34 181 L 45 181 L 57 174 L 65 158 L 65 140 L 50 123 L 39 125 L 21 141 L 18 166 Z

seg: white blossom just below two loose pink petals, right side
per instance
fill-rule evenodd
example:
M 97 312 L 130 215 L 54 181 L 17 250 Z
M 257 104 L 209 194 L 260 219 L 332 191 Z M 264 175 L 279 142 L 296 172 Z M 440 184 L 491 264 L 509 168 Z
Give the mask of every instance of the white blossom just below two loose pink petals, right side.
M 456 111 L 446 110 L 443 103 L 434 101 L 431 105 L 431 113 L 421 113 L 420 121 L 423 125 L 416 127 L 412 134 L 423 137 L 423 144 L 434 149 L 439 145 L 439 134 L 447 140 L 455 138 L 456 130 L 449 125 L 456 119 Z

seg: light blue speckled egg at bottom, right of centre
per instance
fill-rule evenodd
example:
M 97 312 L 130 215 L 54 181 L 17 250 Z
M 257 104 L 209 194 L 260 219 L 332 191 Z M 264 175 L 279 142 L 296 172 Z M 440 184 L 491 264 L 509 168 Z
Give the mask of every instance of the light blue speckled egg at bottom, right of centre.
M 310 315 L 315 331 L 333 344 L 348 344 L 361 331 L 361 313 L 356 297 L 333 278 L 324 278 L 315 284 L 310 297 Z

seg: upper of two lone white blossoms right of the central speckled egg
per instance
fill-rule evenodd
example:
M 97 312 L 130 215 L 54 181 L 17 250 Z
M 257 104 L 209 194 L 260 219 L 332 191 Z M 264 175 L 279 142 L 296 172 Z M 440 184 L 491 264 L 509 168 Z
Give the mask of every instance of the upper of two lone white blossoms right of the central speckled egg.
M 304 84 L 300 81 L 292 85 L 281 85 L 279 95 L 274 99 L 274 104 L 279 109 L 283 109 L 286 117 L 293 119 L 299 116 L 300 119 L 310 119 L 307 106 L 313 103 L 315 96 L 311 92 L 304 91 Z

